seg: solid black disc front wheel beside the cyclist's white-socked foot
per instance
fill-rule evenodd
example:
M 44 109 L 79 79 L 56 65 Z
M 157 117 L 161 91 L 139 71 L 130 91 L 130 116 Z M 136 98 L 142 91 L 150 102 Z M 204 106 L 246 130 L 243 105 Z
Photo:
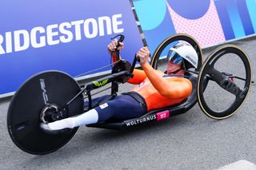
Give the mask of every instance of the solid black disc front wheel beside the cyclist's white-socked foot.
M 66 144 L 78 128 L 49 133 L 42 122 L 72 117 L 83 111 L 83 97 L 78 96 L 62 110 L 80 87 L 66 73 L 47 71 L 28 79 L 15 93 L 7 113 L 7 128 L 14 144 L 31 154 L 46 154 Z M 61 114 L 57 114 L 62 110 Z

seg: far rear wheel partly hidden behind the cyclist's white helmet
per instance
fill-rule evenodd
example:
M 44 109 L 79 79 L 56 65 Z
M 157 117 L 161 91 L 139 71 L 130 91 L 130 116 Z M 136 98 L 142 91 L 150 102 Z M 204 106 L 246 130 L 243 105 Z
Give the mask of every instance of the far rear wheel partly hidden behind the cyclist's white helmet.
M 169 38 L 166 38 L 160 45 L 158 45 L 158 48 L 154 51 L 154 55 L 151 59 L 152 67 L 154 69 L 159 69 L 162 72 L 165 72 L 167 65 L 166 56 L 169 52 L 169 49 L 179 42 L 192 45 L 195 51 L 198 53 L 198 68 L 195 69 L 198 71 L 202 65 L 202 49 L 200 48 L 198 42 L 188 34 L 172 35 Z

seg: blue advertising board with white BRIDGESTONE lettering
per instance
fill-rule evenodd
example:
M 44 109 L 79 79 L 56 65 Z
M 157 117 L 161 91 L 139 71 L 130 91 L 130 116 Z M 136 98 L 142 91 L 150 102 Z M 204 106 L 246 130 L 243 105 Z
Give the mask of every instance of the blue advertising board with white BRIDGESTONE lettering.
M 74 77 L 110 64 L 106 45 L 117 34 L 126 36 L 121 54 L 129 61 L 143 45 L 129 0 L 8 0 L 0 16 L 0 97 L 34 73 Z

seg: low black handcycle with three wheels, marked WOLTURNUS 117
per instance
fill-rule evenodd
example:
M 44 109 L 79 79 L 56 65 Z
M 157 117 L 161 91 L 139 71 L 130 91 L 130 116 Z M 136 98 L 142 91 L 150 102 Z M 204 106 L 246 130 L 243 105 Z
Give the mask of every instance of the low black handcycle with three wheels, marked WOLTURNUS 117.
M 123 38 L 121 35 L 119 42 L 122 42 Z M 151 61 L 154 69 L 160 69 L 161 63 L 164 61 L 162 53 L 165 53 L 166 48 L 169 49 L 170 45 L 177 41 L 190 43 L 198 53 L 198 68 L 186 70 L 186 77 L 190 79 L 193 85 L 190 97 L 178 105 L 155 109 L 142 117 L 126 121 L 110 120 L 86 126 L 124 129 L 135 125 L 145 125 L 150 121 L 162 121 L 186 113 L 197 102 L 202 112 L 208 117 L 222 120 L 232 116 L 242 106 L 249 93 L 250 85 L 254 83 L 254 81 L 251 81 L 249 57 L 236 45 L 223 45 L 215 49 L 202 63 L 202 49 L 198 42 L 190 35 L 175 34 L 158 45 Z M 226 54 L 234 54 L 242 62 L 244 69 L 242 76 L 219 71 L 215 68 L 218 60 L 221 60 Z M 40 123 L 73 117 L 111 100 L 118 93 L 118 85 L 126 83 L 130 77 L 133 77 L 137 60 L 136 56 L 132 64 L 124 59 L 118 60 L 113 64 L 110 75 L 85 85 L 78 85 L 73 77 L 60 71 L 46 71 L 30 77 L 14 94 L 7 113 L 7 128 L 14 144 L 23 151 L 36 155 L 47 154 L 62 148 L 74 136 L 78 128 L 63 129 L 58 133 L 48 133 L 40 128 Z M 242 81 L 242 86 L 237 85 L 234 79 Z M 234 101 L 227 109 L 219 111 L 210 107 L 205 93 L 211 81 L 226 93 L 234 96 Z M 107 84 L 111 84 L 110 95 L 95 104 L 91 92 Z M 86 107 L 84 106 L 85 98 L 88 99 L 88 106 Z

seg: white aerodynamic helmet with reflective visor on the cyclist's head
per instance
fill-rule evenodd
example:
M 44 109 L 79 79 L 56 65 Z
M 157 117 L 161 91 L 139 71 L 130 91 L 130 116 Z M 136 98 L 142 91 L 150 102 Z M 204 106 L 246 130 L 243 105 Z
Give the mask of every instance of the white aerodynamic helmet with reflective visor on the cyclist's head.
M 198 54 L 190 44 L 180 42 L 171 47 L 167 55 L 167 60 L 178 65 L 184 62 L 185 70 L 193 67 L 198 68 Z

